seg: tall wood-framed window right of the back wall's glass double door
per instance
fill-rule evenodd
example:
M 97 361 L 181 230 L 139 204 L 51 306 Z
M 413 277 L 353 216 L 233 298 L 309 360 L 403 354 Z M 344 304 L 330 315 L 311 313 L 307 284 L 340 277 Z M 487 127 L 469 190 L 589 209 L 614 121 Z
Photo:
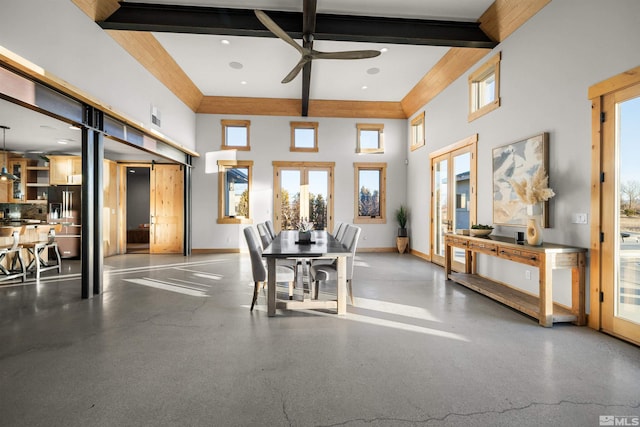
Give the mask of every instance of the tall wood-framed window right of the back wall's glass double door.
M 386 223 L 386 163 L 354 163 L 355 223 Z

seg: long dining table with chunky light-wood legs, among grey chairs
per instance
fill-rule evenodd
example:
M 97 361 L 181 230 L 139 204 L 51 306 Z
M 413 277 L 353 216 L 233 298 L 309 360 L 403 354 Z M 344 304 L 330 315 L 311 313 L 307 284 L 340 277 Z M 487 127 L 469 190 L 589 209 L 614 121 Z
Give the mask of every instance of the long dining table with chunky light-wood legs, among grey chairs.
M 309 242 L 300 241 L 298 237 L 297 230 L 282 230 L 262 252 L 267 261 L 267 315 L 275 316 L 276 309 L 329 309 L 346 314 L 347 257 L 352 256 L 351 251 L 324 230 L 312 231 Z M 319 258 L 337 259 L 336 299 L 311 299 L 304 292 L 302 300 L 276 298 L 276 262 L 279 259 L 302 260 L 305 265 L 307 260 Z

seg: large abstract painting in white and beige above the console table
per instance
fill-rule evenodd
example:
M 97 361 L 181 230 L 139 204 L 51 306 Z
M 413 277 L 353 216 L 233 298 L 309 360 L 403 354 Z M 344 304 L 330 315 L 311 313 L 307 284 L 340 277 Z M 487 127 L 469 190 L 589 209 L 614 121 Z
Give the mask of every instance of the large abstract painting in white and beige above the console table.
M 549 134 L 547 132 L 493 149 L 493 223 L 524 227 L 530 212 L 515 193 L 512 180 L 531 181 L 543 167 L 549 171 Z M 549 226 L 549 202 L 541 202 L 540 223 Z

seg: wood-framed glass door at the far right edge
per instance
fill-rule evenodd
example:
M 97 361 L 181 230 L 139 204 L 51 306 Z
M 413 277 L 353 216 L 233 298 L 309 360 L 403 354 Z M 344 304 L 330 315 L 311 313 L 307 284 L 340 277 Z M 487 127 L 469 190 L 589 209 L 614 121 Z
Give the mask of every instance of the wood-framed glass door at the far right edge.
M 640 343 L 640 83 L 602 101 L 601 327 Z

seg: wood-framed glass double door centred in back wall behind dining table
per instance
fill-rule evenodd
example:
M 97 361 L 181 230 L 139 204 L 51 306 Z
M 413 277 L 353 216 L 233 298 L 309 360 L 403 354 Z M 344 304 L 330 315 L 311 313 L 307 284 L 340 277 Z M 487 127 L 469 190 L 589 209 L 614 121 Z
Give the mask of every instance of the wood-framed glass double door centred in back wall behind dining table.
M 298 228 L 301 219 L 316 230 L 333 226 L 333 162 L 273 162 L 274 227 Z

